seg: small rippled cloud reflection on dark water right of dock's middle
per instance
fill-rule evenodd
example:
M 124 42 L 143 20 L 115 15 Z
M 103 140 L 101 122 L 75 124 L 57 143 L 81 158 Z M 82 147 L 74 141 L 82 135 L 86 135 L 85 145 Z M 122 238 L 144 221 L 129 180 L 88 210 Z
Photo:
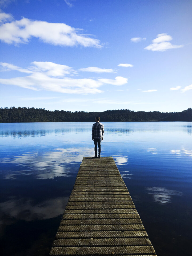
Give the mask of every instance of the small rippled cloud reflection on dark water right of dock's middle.
M 182 195 L 179 191 L 165 189 L 164 187 L 147 187 L 146 190 L 150 191 L 147 194 L 152 194 L 153 200 L 160 204 L 170 203 L 174 195 Z

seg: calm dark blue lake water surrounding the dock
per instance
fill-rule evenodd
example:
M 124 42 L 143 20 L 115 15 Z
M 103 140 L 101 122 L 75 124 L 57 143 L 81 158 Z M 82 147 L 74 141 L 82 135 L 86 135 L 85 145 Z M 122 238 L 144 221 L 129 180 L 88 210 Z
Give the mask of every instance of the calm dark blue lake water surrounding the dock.
M 191 255 L 192 122 L 103 122 L 158 256 Z M 1 255 L 49 254 L 93 123 L 0 123 Z

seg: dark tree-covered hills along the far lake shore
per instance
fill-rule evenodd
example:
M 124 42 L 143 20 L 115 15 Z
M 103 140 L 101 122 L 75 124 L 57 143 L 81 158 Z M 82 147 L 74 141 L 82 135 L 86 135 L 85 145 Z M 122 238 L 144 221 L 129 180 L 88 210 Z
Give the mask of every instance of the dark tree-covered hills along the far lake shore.
M 182 112 L 133 111 L 129 109 L 107 110 L 103 112 L 85 111 L 49 111 L 29 107 L 5 107 L 0 109 L 1 123 L 19 122 L 94 122 L 95 116 L 101 122 L 134 122 L 134 121 L 192 121 L 192 109 Z

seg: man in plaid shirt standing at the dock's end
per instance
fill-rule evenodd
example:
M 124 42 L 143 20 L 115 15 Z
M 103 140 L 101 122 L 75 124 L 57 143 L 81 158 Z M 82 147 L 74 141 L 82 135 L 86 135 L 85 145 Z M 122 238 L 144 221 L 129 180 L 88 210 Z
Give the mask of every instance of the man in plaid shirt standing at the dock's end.
M 92 128 L 92 140 L 95 144 L 95 156 L 94 158 L 97 158 L 97 143 L 99 148 L 99 155 L 98 158 L 101 157 L 101 141 L 103 140 L 103 134 L 104 134 L 104 125 L 99 122 L 100 117 L 95 117 L 95 123 L 93 124 Z

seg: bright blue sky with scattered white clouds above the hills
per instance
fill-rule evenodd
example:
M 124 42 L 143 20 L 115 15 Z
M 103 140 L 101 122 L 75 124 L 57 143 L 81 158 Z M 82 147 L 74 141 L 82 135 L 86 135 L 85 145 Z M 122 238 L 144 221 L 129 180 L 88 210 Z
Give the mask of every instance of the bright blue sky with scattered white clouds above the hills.
M 192 107 L 192 2 L 0 0 L 1 106 Z

